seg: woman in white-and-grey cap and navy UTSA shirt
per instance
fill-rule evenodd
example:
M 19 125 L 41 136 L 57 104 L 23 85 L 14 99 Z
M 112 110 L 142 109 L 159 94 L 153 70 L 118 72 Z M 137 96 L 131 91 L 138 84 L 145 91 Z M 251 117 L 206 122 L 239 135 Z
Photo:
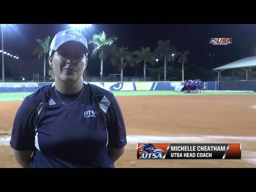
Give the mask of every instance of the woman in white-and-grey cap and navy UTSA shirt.
M 14 119 L 11 147 L 24 168 L 114 168 L 126 145 L 114 95 L 84 82 L 88 47 L 65 30 L 50 45 L 52 85 L 27 96 Z

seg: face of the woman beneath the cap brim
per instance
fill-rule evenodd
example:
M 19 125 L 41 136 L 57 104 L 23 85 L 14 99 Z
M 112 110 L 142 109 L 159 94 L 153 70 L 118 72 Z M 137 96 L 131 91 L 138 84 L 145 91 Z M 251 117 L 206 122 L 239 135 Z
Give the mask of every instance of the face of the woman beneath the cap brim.
M 69 41 L 60 46 L 49 64 L 53 68 L 55 78 L 63 82 L 76 82 L 82 77 L 87 66 L 87 58 L 82 44 Z

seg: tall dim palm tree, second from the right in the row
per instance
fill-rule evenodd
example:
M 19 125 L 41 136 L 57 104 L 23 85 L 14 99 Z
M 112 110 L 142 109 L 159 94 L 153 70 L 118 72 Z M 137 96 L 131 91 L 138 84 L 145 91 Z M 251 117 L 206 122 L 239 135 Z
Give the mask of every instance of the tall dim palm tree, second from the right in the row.
M 164 58 L 164 81 L 166 81 L 166 63 L 171 62 L 172 54 L 177 51 L 175 46 L 170 46 L 170 40 L 164 42 L 162 40 L 158 41 L 158 48 L 155 50 L 155 55 L 160 58 Z

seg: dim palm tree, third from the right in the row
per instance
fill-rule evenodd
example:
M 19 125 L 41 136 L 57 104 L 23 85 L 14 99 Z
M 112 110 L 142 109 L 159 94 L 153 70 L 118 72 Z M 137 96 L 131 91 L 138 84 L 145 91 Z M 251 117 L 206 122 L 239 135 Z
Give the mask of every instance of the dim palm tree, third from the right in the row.
M 144 47 L 141 47 L 141 51 L 134 51 L 134 55 L 137 56 L 136 58 L 134 58 L 136 64 L 144 61 L 144 81 L 146 81 L 146 62 L 154 66 L 156 60 L 154 57 L 154 53 L 150 52 L 150 47 L 147 47 L 146 49 Z

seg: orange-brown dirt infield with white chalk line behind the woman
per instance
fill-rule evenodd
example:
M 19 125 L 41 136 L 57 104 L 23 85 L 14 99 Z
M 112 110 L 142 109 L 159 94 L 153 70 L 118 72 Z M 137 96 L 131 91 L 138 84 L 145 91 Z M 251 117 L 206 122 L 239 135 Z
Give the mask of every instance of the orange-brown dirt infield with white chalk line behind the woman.
M 124 155 L 115 164 L 117 168 L 256 167 L 254 95 L 117 96 L 117 99 L 128 140 Z M 20 104 L 21 101 L 0 102 L 0 134 L 11 134 Z M 137 160 L 136 143 L 140 142 L 241 142 L 242 160 Z M 0 167 L 20 167 L 8 145 L 0 145 Z

